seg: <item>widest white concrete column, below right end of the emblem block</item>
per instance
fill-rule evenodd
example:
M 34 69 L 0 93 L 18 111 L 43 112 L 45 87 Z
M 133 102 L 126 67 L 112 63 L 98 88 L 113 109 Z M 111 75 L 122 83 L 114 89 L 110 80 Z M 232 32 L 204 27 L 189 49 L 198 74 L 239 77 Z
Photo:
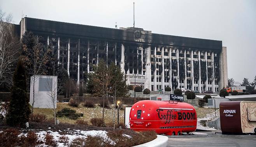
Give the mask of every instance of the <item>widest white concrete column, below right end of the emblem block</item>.
M 150 58 L 151 58 L 151 47 L 147 47 L 146 49 L 146 85 L 144 88 L 149 88 L 151 89 L 151 63 L 150 63 Z

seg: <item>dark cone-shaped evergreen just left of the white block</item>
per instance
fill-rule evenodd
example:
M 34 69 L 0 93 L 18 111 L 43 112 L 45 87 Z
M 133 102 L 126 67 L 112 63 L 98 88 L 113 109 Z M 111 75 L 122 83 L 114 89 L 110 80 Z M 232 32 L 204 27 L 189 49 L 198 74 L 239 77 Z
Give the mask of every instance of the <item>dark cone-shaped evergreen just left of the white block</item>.
M 6 122 L 10 126 L 24 125 L 29 120 L 30 105 L 26 90 L 26 73 L 20 58 L 14 72 L 11 101 Z

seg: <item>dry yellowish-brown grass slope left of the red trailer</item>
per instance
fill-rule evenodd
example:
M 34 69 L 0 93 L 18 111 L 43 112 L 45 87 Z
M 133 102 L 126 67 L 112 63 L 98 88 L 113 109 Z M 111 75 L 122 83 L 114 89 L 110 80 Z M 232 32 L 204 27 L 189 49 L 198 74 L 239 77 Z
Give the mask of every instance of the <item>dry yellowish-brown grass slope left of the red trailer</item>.
M 113 105 L 114 106 L 114 105 Z M 60 111 L 63 108 L 70 108 L 77 111 L 77 113 L 83 113 L 84 116 L 82 116 L 79 119 L 84 119 L 89 122 L 91 118 L 102 118 L 102 107 L 100 107 L 98 104 L 95 105 L 94 108 L 84 107 L 82 104 L 79 105 L 79 107 L 72 107 L 68 105 L 68 103 L 57 103 L 57 111 Z M 41 109 L 41 108 L 34 108 L 34 113 L 42 113 L 47 116 L 47 119 L 54 118 L 53 111 L 51 109 Z M 104 111 L 104 120 L 105 123 L 112 122 L 112 118 L 114 117 L 114 111 L 113 109 L 105 109 Z M 74 124 L 76 120 L 68 119 L 65 117 L 58 118 L 61 123 L 71 123 Z M 116 120 L 117 120 L 117 111 L 116 111 Z M 124 122 L 124 110 L 119 111 L 119 122 Z

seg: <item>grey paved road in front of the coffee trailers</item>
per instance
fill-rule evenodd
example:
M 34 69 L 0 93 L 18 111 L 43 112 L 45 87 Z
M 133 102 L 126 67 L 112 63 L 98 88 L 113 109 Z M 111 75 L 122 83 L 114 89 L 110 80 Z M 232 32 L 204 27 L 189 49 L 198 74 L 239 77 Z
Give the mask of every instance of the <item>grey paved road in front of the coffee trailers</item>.
M 171 137 L 168 139 L 168 147 L 256 147 L 256 135 L 244 137 Z

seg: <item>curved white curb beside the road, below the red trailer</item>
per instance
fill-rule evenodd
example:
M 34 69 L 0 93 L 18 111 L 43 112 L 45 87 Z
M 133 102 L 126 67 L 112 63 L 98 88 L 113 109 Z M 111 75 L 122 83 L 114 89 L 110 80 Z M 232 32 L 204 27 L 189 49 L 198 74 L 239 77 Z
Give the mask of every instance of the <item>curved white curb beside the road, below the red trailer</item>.
M 163 135 L 157 135 L 157 138 L 147 142 L 145 144 L 136 145 L 133 147 L 167 147 L 168 137 Z

